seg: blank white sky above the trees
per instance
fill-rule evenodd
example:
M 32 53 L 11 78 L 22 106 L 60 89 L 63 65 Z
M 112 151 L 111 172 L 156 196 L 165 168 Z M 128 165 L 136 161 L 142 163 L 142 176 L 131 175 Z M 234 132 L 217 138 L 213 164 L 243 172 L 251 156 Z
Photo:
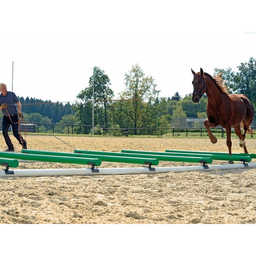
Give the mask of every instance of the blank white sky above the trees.
M 256 58 L 255 1 L 2 1 L 0 82 L 17 96 L 73 102 L 94 66 L 117 94 L 138 64 L 159 97 L 193 91 L 200 67 Z M 245 33 L 250 32 L 250 33 Z

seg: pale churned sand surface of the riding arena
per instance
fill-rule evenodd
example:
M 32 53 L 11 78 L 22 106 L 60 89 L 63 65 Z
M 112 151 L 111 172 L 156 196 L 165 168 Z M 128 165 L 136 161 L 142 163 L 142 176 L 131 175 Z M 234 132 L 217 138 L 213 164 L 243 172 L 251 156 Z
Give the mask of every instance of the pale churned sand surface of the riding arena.
M 247 135 L 248 136 L 248 135 Z M 21 146 L 11 135 L 16 152 Z M 59 137 L 76 149 L 120 152 L 165 149 L 227 152 L 226 140 Z M 0 136 L 0 150 L 6 144 Z M 73 152 L 53 136 L 28 136 L 28 148 Z M 233 152 L 243 152 L 232 139 Z M 254 139 L 247 139 L 256 153 Z M 253 162 L 255 159 L 253 160 Z M 213 161 L 212 164 L 227 164 Z M 158 166 L 198 165 L 162 162 Z M 75 164 L 20 163 L 17 169 L 86 168 Z M 100 168 L 141 167 L 102 162 Z M 255 223 L 256 170 L 0 178 L 0 223 Z

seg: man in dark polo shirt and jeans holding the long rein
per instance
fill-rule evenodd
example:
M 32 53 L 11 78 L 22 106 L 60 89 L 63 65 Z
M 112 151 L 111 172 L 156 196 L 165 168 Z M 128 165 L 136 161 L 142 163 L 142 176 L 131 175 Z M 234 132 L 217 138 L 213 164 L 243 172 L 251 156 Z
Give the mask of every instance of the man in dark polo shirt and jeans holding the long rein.
M 14 146 L 8 135 L 8 129 L 10 125 L 12 126 L 12 132 L 14 137 L 22 145 L 23 149 L 27 149 L 27 142 L 22 138 L 22 136 L 19 135 L 18 118 L 22 117 L 20 101 L 14 92 L 7 91 L 6 85 L 4 83 L 0 83 L 0 91 L 0 110 L 2 110 L 2 113 L 4 115 L 2 131 L 5 142 L 8 146 L 8 149 L 5 151 L 14 152 Z

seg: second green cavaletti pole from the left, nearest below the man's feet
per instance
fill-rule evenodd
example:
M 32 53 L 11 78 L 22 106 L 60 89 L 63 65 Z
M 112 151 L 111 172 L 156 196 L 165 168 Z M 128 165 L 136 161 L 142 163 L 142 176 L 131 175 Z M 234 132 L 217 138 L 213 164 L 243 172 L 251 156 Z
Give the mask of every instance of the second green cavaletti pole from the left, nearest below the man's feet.
M 70 164 L 88 164 L 96 166 L 101 165 L 99 158 L 77 158 L 77 157 L 66 157 L 66 156 L 47 156 L 47 155 L 32 155 L 32 154 L 21 154 L 21 153 L 10 153 L 0 152 L 0 157 L 3 158 L 15 158 L 28 161 L 41 161 L 41 162 L 55 162 L 55 163 L 70 163 Z

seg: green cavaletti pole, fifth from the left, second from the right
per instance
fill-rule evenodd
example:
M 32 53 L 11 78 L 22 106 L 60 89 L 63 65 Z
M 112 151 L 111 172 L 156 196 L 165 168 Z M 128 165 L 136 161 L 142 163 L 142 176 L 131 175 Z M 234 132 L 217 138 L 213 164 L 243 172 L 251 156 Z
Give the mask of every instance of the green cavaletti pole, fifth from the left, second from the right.
M 188 153 L 171 153 L 171 152 L 154 152 L 154 151 L 139 151 L 122 149 L 122 153 L 132 154 L 147 154 L 147 155 L 164 155 L 164 156 L 193 156 L 193 157 L 210 157 L 212 160 L 227 160 L 227 161 L 241 161 L 251 162 L 251 156 L 229 156 L 229 155 L 211 155 L 211 154 L 188 154 Z

